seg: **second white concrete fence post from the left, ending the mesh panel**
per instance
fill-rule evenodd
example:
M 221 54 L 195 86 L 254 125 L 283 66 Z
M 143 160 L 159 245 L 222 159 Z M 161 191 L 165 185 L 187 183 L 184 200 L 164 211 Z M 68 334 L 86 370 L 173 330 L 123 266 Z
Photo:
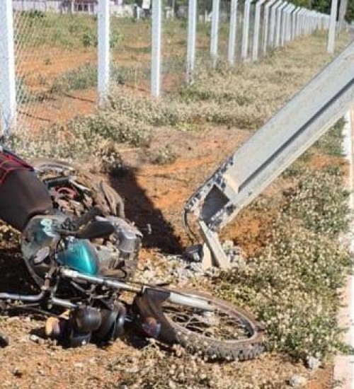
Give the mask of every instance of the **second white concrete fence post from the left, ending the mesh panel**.
M 110 1 L 98 1 L 98 105 L 107 101 L 110 86 Z

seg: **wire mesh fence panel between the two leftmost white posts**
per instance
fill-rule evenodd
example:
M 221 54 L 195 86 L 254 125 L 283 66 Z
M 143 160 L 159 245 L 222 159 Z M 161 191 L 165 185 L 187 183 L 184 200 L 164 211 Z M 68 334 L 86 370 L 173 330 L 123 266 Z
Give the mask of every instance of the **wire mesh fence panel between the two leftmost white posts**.
M 95 9 L 72 5 L 13 1 L 17 129 L 64 124 L 96 106 Z

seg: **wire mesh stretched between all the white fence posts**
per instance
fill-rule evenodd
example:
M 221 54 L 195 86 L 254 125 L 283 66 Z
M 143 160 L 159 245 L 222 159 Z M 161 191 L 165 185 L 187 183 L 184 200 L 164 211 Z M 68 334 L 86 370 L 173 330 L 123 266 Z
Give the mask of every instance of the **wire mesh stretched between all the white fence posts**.
M 98 103 L 98 13 L 101 1 L 109 5 L 110 10 L 111 90 L 121 88 L 124 93 L 151 93 L 152 74 L 156 74 L 156 71 L 152 72 L 152 2 L 158 0 L 141 0 L 138 4 L 127 5 L 122 4 L 122 0 L 1 1 L 4 3 L 0 4 L 11 1 L 13 9 L 17 129 L 33 130 L 65 124 L 75 115 L 95 110 Z M 268 9 L 267 24 L 264 24 L 267 2 L 259 4 L 259 17 L 256 17 L 257 2 L 239 0 L 234 57 L 230 60 L 230 24 L 231 15 L 234 15 L 231 3 L 230 0 L 197 2 L 195 71 L 215 66 L 217 61 L 229 60 L 230 64 L 235 64 L 259 59 L 265 49 L 269 51 L 275 47 L 276 31 L 278 35 L 283 34 L 278 13 L 273 12 L 275 17 L 272 18 L 271 8 Z M 219 5 L 213 7 L 213 4 Z M 188 5 L 188 0 L 161 0 L 161 93 L 178 91 L 187 79 Z M 213 9 L 219 14 L 214 30 Z M 101 13 L 100 18 L 103 17 Z M 265 31 L 268 35 L 266 45 Z M 245 32 L 247 45 L 244 45 Z M 270 40 L 271 35 L 273 40 Z M 253 37 L 258 37 L 256 45 Z M 0 45 L 5 47 L 6 39 L 4 34 L 0 35 Z M 286 43 L 284 37 L 282 40 L 278 37 L 278 41 L 280 47 Z M 6 52 L 6 47 L 1 48 L 3 52 Z M 217 52 L 217 61 L 211 52 Z M 190 60 L 190 56 L 188 58 Z M 100 62 L 100 75 L 108 69 L 107 64 L 105 62 L 103 66 Z M 191 80 L 189 76 L 188 80 Z M 4 81 L 8 76 L 0 74 L 0 86 L 1 77 Z M 155 80 L 154 85 L 156 83 Z M 159 95 L 159 91 L 154 95 Z

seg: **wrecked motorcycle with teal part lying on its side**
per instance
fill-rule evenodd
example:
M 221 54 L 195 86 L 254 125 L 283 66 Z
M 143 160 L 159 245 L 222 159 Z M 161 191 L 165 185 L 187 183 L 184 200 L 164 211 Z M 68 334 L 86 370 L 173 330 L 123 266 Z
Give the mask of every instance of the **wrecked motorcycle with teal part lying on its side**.
M 37 307 L 50 316 L 46 335 L 66 347 L 113 342 L 130 327 L 214 359 L 261 354 L 263 328 L 244 310 L 199 291 L 132 281 L 142 233 L 110 185 L 78 172 L 1 151 L 0 219 L 21 233 L 40 290 L 0 293 L 5 310 Z

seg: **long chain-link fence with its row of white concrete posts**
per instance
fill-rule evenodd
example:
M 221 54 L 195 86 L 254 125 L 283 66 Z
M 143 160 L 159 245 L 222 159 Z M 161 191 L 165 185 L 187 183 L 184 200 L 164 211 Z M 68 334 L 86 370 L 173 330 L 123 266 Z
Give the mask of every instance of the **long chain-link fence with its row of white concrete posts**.
M 1 123 L 30 130 L 92 112 L 108 73 L 125 93 L 171 93 L 198 66 L 255 61 L 329 19 L 281 0 L 1 0 L 0 11 Z

